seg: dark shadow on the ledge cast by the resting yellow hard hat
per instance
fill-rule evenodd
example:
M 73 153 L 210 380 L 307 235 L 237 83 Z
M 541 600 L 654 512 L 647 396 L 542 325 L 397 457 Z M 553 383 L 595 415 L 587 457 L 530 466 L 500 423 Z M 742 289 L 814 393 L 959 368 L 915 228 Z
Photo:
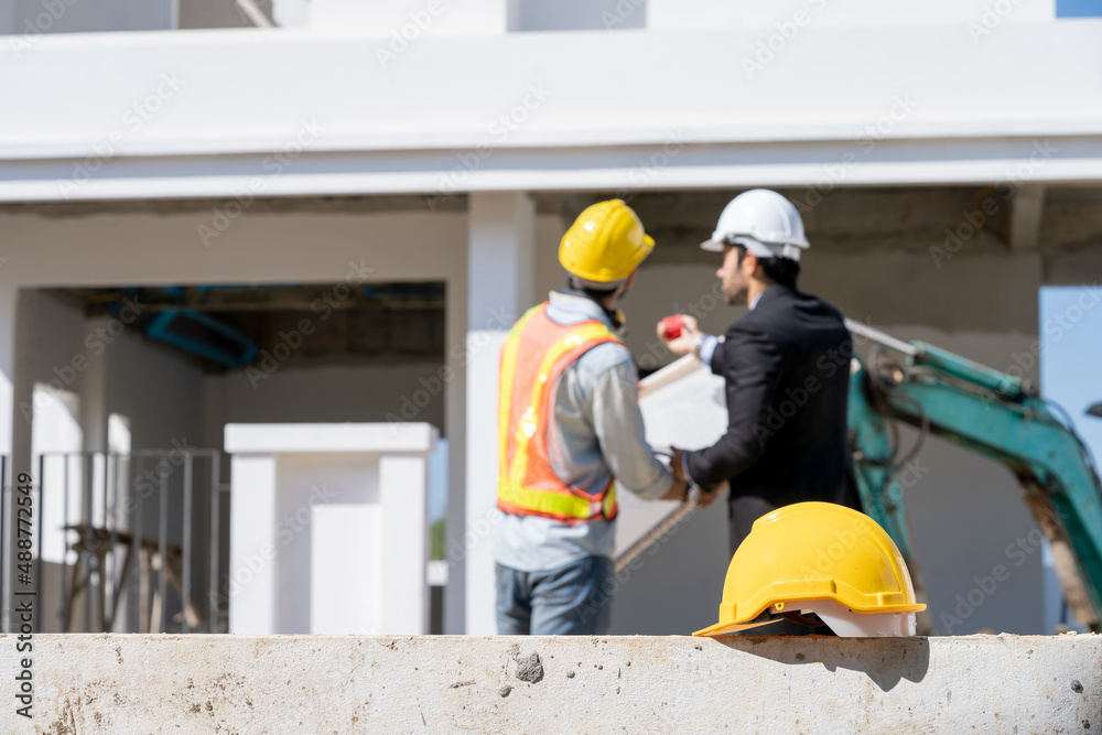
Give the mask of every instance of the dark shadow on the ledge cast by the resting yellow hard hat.
M 885 692 L 901 679 L 922 681 L 930 668 L 930 641 L 925 637 L 726 636 L 712 641 L 778 663 L 821 663 L 828 671 L 861 671 Z

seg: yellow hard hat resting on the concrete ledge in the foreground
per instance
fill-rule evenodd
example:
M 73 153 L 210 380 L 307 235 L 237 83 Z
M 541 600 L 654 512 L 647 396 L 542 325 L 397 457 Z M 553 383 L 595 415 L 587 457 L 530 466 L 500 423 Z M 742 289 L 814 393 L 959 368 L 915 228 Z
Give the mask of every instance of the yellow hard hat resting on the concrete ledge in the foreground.
M 773 623 L 778 613 L 818 612 L 815 601 L 858 619 L 926 609 L 899 549 L 876 521 L 844 506 L 797 502 L 754 522 L 727 568 L 720 621 L 693 635 L 722 636 Z M 875 635 L 908 634 L 897 626 Z

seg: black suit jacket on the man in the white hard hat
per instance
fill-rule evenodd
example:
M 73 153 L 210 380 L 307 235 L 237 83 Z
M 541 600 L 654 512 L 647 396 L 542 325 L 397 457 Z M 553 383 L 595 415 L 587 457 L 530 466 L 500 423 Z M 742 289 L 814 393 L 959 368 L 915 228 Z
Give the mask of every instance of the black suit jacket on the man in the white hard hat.
M 689 453 L 692 478 L 728 480 L 732 499 L 821 500 L 860 510 L 845 418 L 852 355 L 836 309 L 770 285 L 712 356 L 712 372 L 726 380 L 727 433 Z

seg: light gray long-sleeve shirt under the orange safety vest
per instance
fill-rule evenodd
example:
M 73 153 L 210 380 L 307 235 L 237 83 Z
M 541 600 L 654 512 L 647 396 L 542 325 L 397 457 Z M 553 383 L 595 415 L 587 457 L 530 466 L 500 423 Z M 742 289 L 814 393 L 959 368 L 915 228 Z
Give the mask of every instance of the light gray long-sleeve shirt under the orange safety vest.
M 559 324 L 597 320 L 613 328 L 599 305 L 584 296 L 551 293 L 548 316 Z M 616 479 L 616 491 L 652 500 L 673 477 L 647 443 L 639 412 L 639 376 L 627 347 L 605 343 L 563 370 L 552 388 L 554 417 L 548 426 L 548 460 L 565 484 L 598 493 Z M 561 523 L 539 516 L 505 514 L 494 558 L 504 566 L 542 572 L 585 556 L 612 558 L 612 521 Z

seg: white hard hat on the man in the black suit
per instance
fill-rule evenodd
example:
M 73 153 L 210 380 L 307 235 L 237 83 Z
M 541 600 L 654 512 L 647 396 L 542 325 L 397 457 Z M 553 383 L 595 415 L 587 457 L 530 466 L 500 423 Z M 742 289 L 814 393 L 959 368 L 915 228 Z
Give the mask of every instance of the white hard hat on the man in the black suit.
M 727 203 L 704 250 L 723 252 L 724 245 L 742 245 L 759 258 L 800 259 L 811 247 L 803 236 L 803 220 L 792 203 L 777 192 L 752 188 Z

